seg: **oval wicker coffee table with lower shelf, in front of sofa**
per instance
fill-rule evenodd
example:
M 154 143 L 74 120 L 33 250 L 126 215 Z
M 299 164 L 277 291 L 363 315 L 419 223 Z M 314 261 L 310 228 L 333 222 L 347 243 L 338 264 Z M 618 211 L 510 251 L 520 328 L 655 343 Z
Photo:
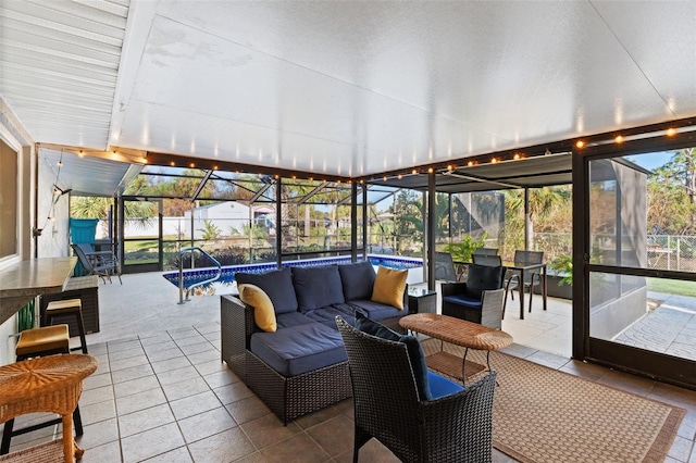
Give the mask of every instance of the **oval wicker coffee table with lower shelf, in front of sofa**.
M 461 361 L 461 383 L 465 384 L 465 368 L 470 367 L 470 376 L 484 368 L 473 362 L 467 362 L 469 349 L 486 351 L 486 366 L 490 370 L 490 351 L 502 349 L 512 343 L 512 336 L 500 329 L 489 328 L 477 323 L 455 318 L 453 316 L 436 313 L 417 313 L 406 315 L 399 321 L 402 328 L 421 333 L 440 341 L 464 348 L 463 359 L 459 359 L 440 349 L 439 352 L 425 358 L 427 366 L 452 377 L 459 377 L 459 362 Z M 473 372 L 471 370 L 474 370 Z

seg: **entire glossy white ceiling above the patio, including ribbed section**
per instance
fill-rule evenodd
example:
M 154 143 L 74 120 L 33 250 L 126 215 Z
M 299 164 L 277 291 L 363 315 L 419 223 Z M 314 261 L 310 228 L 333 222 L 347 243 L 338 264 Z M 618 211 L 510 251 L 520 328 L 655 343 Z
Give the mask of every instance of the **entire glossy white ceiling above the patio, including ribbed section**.
M 9 0 L 0 95 L 39 143 L 357 177 L 694 116 L 694 24 L 693 1 Z

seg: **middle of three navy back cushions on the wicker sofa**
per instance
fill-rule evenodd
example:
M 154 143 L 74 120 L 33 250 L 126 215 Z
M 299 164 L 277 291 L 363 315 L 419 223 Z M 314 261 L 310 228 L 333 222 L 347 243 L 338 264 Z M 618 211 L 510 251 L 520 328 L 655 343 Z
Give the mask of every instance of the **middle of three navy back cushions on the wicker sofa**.
M 293 284 L 300 312 L 346 301 L 337 265 L 293 267 Z

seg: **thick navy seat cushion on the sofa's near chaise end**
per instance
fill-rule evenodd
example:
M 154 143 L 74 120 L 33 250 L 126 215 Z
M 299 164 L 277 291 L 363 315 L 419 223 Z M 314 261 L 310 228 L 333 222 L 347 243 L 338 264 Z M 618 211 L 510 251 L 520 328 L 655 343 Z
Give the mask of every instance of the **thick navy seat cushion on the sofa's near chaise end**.
M 250 350 L 283 376 L 295 376 L 348 360 L 337 329 L 308 323 L 251 335 Z

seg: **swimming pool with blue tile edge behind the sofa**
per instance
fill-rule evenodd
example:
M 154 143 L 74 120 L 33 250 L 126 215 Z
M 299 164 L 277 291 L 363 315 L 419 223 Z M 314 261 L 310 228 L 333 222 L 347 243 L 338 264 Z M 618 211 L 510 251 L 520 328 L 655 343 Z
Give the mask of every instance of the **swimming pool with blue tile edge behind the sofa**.
M 369 254 L 368 260 L 375 267 L 378 265 L 408 270 L 409 276 L 407 283 L 412 285 L 423 281 L 423 260 L 417 258 L 402 258 L 398 255 L 383 255 L 383 254 Z M 321 258 L 321 259 L 304 259 L 300 261 L 287 261 L 283 262 L 283 267 L 310 267 L 316 265 L 330 265 L 330 264 L 348 264 L 350 263 L 350 255 L 340 258 Z M 227 265 L 222 267 L 222 275 L 220 279 L 211 285 L 206 285 L 197 295 L 223 295 L 229 292 L 236 292 L 235 273 L 248 272 L 248 273 L 263 273 L 275 270 L 274 262 L 263 264 L 248 264 L 248 265 Z M 188 288 L 197 283 L 204 281 L 213 278 L 217 274 L 216 267 L 194 268 L 184 270 L 184 287 Z M 162 274 L 167 281 L 178 288 L 178 271 L 164 272 Z

